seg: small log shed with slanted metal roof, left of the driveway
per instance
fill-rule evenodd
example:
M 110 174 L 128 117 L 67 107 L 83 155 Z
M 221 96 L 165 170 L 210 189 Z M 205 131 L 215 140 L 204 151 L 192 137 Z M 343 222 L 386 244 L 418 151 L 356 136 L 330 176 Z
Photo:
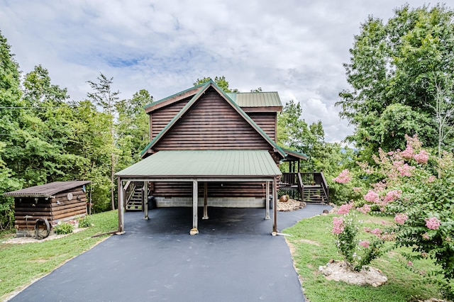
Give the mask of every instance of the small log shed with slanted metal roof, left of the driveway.
M 14 220 L 17 237 L 32 236 L 37 220 L 52 225 L 59 220 L 87 215 L 85 185 L 92 181 L 56 181 L 4 193 L 14 197 Z

